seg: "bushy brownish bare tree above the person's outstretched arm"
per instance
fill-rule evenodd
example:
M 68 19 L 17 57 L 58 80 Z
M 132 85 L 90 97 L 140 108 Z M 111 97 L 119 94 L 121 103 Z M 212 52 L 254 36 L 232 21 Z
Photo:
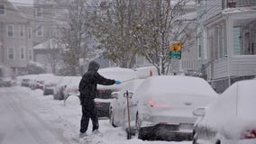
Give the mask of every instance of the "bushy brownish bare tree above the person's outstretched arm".
M 133 67 L 138 53 L 133 37 L 133 25 L 137 21 L 134 6 L 134 0 L 102 2 L 92 17 L 92 31 L 99 40 L 99 49 L 104 49 L 105 58 L 120 67 Z

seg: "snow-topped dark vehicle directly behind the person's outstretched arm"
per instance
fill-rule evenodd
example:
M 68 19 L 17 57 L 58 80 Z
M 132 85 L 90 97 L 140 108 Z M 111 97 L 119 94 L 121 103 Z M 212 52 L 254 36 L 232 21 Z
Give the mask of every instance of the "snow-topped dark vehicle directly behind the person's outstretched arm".
M 97 85 L 97 95 L 95 99 L 97 116 L 100 118 L 109 117 L 109 105 L 113 100 L 111 93 L 121 90 L 125 82 L 136 78 L 136 72 L 130 68 L 108 67 L 100 68 L 98 73 L 109 79 L 120 80 L 121 85 Z

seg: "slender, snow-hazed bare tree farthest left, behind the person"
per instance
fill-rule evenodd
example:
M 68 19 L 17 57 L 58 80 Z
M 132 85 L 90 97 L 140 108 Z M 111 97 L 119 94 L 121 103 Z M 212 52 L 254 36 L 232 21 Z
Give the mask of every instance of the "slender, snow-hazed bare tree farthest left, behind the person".
M 61 36 L 60 41 L 65 45 L 62 50 L 63 62 L 66 68 L 69 68 L 70 75 L 78 75 L 80 72 L 79 58 L 87 58 L 88 51 L 94 50 L 88 48 L 87 31 L 87 4 L 84 0 L 74 0 L 68 4 L 67 24 L 59 28 Z

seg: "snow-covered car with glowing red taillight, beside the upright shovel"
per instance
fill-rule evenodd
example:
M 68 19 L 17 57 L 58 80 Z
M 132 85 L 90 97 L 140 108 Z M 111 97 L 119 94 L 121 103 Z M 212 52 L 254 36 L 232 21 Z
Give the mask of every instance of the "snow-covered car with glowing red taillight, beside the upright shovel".
M 199 77 L 148 77 L 131 98 L 131 126 L 138 130 L 139 139 L 192 140 L 197 121 L 193 110 L 217 96 L 211 85 Z M 119 119 L 125 120 L 123 115 Z

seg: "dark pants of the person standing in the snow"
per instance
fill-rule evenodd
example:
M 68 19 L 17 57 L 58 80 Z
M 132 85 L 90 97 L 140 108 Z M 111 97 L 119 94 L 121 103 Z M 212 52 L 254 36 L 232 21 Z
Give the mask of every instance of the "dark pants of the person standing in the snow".
M 80 125 L 80 132 L 86 132 L 91 118 L 93 123 L 93 130 L 98 129 L 98 119 L 94 100 L 87 100 L 82 105 L 82 119 Z

